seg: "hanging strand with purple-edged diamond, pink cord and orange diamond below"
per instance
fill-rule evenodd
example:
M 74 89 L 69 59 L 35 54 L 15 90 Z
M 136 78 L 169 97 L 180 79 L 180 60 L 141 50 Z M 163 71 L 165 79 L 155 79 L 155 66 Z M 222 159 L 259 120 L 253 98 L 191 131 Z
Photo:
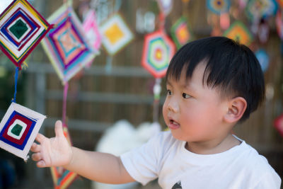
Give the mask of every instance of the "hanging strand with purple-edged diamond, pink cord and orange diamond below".
M 68 81 L 98 54 L 98 50 L 88 43 L 83 25 L 71 8 L 71 4 L 72 1 L 64 0 L 64 5 L 47 19 L 57 25 L 57 28 L 50 30 L 42 40 L 42 47 L 64 85 L 62 123 L 68 141 L 70 141 L 66 119 Z M 51 172 L 54 187 L 60 189 L 67 188 L 77 177 L 76 173 L 64 170 L 62 167 L 52 167 Z

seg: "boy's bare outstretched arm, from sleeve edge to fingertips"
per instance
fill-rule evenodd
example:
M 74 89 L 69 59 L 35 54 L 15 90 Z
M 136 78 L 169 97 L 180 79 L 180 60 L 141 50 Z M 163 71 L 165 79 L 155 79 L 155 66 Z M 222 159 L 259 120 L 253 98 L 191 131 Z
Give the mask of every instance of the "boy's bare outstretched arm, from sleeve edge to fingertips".
M 129 176 L 120 158 L 112 154 L 95 151 L 84 151 L 70 147 L 62 130 L 62 122 L 55 123 L 54 138 L 37 134 L 31 151 L 35 152 L 32 159 L 38 167 L 62 166 L 69 171 L 93 181 L 102 183 L 129 183 L 134 179 Z

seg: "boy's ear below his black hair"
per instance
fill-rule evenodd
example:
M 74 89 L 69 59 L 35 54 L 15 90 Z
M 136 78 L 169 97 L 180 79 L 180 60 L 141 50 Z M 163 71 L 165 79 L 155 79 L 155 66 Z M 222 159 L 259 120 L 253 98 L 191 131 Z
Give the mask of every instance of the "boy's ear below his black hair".
M 229 101 L 228 111 L 224 115 L 224 120 L 226 122 L 232 123 L 237 122 L 245 113 L 247 108 L 247 101 L 243 97 L 235 97 Z

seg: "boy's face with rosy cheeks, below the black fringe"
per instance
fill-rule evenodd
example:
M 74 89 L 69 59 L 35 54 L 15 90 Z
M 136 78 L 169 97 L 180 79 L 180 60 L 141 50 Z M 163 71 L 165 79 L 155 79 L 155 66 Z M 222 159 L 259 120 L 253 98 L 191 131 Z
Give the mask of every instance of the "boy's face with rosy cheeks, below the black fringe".
M 202 84 L 204 68 L 205 64 L 199 64 L 190 80 L 185 79 L 185 71 L 179 81 L 168 78 L 163 118 L 176 139 L 206 142 L 227 132 L 222 124 L 227 101 L 221 100 L 215 88 Z

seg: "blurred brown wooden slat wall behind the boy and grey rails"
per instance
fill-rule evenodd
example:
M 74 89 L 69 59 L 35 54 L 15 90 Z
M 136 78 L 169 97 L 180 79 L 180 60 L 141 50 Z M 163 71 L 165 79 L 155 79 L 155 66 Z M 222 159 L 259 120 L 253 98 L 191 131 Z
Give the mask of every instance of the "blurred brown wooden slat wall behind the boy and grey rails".
M 79 12 L 79 5 L 82 1 L 83 0 L 74 0 L 74 8 L 77 12 Z M 234 1 L 232 2 L 234 3 Z M 47 18 L 62 4 L 62 1 L 41 0 L 35 1 L 34 4 L 35 7 L 39 8 L 40 12 L 43 12 L 45 18 Z M 103 125 L 90 125 L 86 128 L 83 127 L 83 123 L 86 122 L 73 122 L 70 127 L 70 134 L 74 146 L 76 147 L 88 150 L 95 149 L 98 139 L 101 134 L 103 134 L 103 130 L 117 122 L 117 120 L 126 119 L 135 126 L 141 124 L 141 122 L 152 122 L 151 103 L 143 103 L 143 101 L 139 100 L 134 103 L 121 103 L 113 102 L 112 99 L 115 98 L 116 95 L 117 98 L 122 99 L 129 98 L 129 96 L 136 96 L 140 99 L 147 99 L 146 101 L 153 101 L 151 88 L 154 85 L 154 78 L 147 74 L 146 71 L 143 72 L 140 64 L 144 35 L 135 32 L 135 15 L 137 8 L 151 10 L 156 14 L 158 13 L 158 7 L 154 0 L 122 0 L 120 13 L 125 18 L 135 38 L 125 49 L 113 57 L 112 71 L 116 70 L 115 67 L 127 69 L 138 68 L 141 70 L 141 75 L 121 76 L 113 72 L 112 74 L 107 74 L 105 71 L 105 74 L 103 74 L 103 71 L 102 74 L 89 74 L 90 72 L 85 71 L 85 74 L 81 74 L 81 76 L 77 76 L 69 82 L 69 98 L 67 101 L 68 120 L 70 120 L 70 122 L 71 120 L 82 120 L 87 123 L 103 123 Z M 184 5 L 181 0 L 174 0 L 173 11 L 169 14 L 168 18 L 166 18 L 167 29 L 182 15 L 187 17 L 195 39 L 209 36 L 212 28 L 207 23 L 205 0 L 190 0 L 186 5 Z M 238 137 L 245 139 L 248 144 L 258 149 L 260 154 L 265 155 L 277 173 L 283 177 L 283 139 L 273 126 L 275 118 L 283 113 L 282 54 L 280 52 L 280 40 L 275 29 L 274 20 L 275 18 L 271 18 L 270 20 L 272 27 L 267 44 L 259 45 L 256 41 L 254 46 L 264 47 L 270 55 L 270 67 L 265 72 L 265 82 L 269 88 L 273 88 L 274 96 L 265 101 L 265 103 L 250 116 L 249 120 L 241 125 L 237 125 L 234 132 Z M 233 19 L 231 21 L 233 21 Z M 247 25 L 249 24 L 244 16 L 241 18 L 241 21 L 245 22 Z M 168 33 L 170 33 L 170 30 L 168 30 Z M 103 69 L 106 59 L 107 55 L 105 50 L 102 49 L 100 55 L 94 60 L 91 69 L 95 70 L 96 67 Z M 31 63 L 28 68 L 33 69 L 33 66 L 40 67 L 40 64 L 49 62 L 49 59 L 47 59 L 47 56 L 39 45 L 30 56 L 29 61 L 36 62 Z M 23 87 L 22 92 L 19 92 L 23 93 L 23 96 L 25 96 L 23 104 L 27 105 L 29 108 L 36 109 L 37 105 L 35 99 L 42 99 L 42 101 L 44 101 L 45 106 L 42 111 L 45 112 L 45 115 L 47 115 L 49 119 L 49 121 L 47 119 L 47 122 L 45 122 L 44 132 L 47 137 L 54 136 L 54 120 L 62 118 L 62 98 L 58 98 L 58 96 L 63 94 L 63 87 L 59 78 L 54 71 L 50 71 L 50 73 L 46 74 L 44 84 L 46 93 L 42 94 L 42 96 L 38 93 L 34 93 L 37 82 L 36 72 L 23 73 L 23 78 L 21 82 L 23 82 L 23 86 L 26 87 Z M 13 81 L 12 76 L 10 79 Z M 164 87 L 163 83 L 163 91 L 165 91 Z M 112 94 L 114 96 L 109 96 L 109 99 L 104 99 L 103 101 L 88 101 L 87 99 L 79 100 L 82 98 L 81 93 L 99 93 L 105 94 L 106 97 Z M 163 93 L 163 95 L 164 94 L 165 93 Z M 53 98 L 52 96 L 57 97 Z M 160 110 L 161 108 L 162 105 L 160 105 Z M 161 125 L 165 128 L 161 114 L 159 120 Z M 96 129 L 94 127 L 99 128 Z M 35 169 L 33 162 L 28 162 L 28 169 L 26 171 L 28 179 L 33 177 Z M 49 169 L 45 169 L 42 176 L 45 178 L 45 182 L 43 183 L 47 186 L 52 186 Z M 28 185 L 31 186 L 33 184 L 28 183 Z M 76 181 L 74 185 L 82 185 L 84 188 L 89 188 L 90 182 L 86 179 L 81 179 Z

